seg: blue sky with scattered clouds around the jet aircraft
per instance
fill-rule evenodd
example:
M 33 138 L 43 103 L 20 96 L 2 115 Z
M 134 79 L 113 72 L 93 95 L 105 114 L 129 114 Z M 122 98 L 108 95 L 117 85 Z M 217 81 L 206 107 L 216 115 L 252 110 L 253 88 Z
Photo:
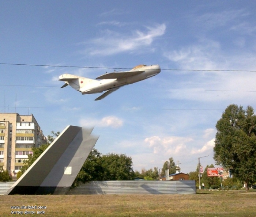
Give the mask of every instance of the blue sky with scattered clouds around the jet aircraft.
M 64 73 L 107 68 L 256 70 L 255 1 L 1 1 L 0 112 L 32 113 L 47 136 L 94 128 L 99 152 L 132 157 L 134 170 L 173 157 L 182 172 L 214 164 L 215 124 L 229 104 L 256 108 L 255 72 L 170 71 L 103 100 L 62 88 Z M 16 105 L 16 110 L 15 110 Z

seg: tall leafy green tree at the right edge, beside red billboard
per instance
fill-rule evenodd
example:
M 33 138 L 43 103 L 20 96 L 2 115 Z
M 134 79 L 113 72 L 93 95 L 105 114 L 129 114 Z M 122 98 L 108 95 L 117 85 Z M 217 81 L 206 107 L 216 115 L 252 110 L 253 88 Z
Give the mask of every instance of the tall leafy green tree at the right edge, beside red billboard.
M 252 107 L 229 105 L 216 124 L 214 159 L 245 183 L 256 180 L 256 115 Z

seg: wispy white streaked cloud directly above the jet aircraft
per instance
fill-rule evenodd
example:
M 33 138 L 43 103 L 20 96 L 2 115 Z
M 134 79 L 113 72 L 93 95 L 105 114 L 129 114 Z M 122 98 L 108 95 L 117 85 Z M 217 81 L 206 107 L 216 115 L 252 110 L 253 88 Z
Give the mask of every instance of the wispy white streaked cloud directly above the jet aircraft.
M 84 53 L 90 55 L 112 55 L 121 52 L 131 52 L 152 44 L 155 38 L 165 33 L 166 25 L 157 24 L 146 27 L 147 31 L 133 31 L 131 35 L 120 34 L 114 31 L 105 30 L 104 36 L 96 38 L 85 44 L 91 46 Z

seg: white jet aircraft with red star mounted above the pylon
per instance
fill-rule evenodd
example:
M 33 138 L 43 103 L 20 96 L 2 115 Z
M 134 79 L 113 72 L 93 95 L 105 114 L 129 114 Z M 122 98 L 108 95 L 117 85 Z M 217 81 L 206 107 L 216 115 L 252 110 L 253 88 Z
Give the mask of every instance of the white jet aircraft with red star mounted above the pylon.
M 61 88 L 70 85 L 82 94 L 96 94 L 106 91 L 95 99 L 101 100 L 121 86 L 153 77 L 159 72 L 161 72 L 159 65 L 138 65 L 130 71 L 106 73 L 97 77 L 97 80 L 76 75 L 63 74 L 59 77 L 59 81 L 65 81 L 65 84 Z

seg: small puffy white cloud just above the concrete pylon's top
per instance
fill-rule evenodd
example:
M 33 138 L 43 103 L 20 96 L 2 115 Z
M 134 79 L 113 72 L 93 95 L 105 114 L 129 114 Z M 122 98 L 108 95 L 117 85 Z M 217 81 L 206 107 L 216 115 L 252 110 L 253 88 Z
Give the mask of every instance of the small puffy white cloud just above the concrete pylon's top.
M 118 128 L 123 126 L 123 120 L 115 116 L 104 117 L 100 120 L 86 118 L 80 120 L 80 125 L 86 127 L 98 126 L 98 127 L 113 127 Z

